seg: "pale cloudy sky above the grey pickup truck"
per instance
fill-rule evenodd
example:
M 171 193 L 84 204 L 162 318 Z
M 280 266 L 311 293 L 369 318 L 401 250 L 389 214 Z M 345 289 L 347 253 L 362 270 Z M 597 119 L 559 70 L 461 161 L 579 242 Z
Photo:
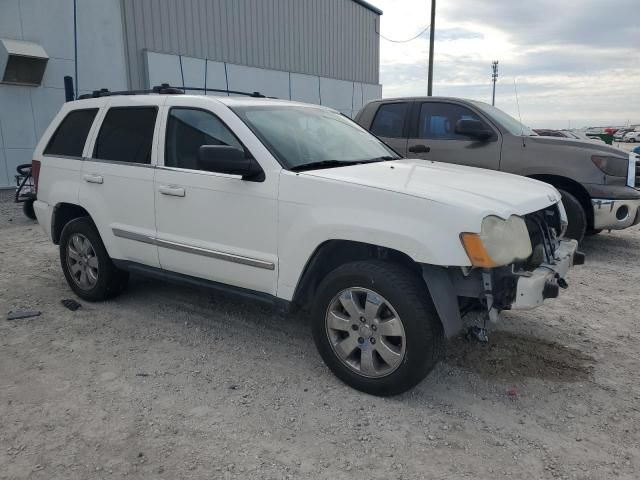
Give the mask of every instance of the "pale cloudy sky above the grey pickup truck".
M 430 22 L 429 0 L 370 3 L 392 40 Z M 490 103 L 498 60 L 496 106 L 532 128 L 640 124 L 640 0 L 438 0 L 435 32 L 434 96 Z M 381 38 L 383 97 L 426 95 L 428 57 L 428 31 Z

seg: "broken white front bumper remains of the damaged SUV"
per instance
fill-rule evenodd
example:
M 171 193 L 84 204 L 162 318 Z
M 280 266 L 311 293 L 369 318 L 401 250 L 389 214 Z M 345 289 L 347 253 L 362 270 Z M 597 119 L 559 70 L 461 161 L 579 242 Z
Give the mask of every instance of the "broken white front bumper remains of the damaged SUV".
M 532 272 L 518 274 L 513 310 L 528 310 L 542 305 L 547 298 L 558 296 L 560 288 L 566 288 L 564 277 L 574 263 L 584 263 L 584 255 L 577 252 L 578 242 L 563 240 L 555 251 L 554 263 L 544 263 Z

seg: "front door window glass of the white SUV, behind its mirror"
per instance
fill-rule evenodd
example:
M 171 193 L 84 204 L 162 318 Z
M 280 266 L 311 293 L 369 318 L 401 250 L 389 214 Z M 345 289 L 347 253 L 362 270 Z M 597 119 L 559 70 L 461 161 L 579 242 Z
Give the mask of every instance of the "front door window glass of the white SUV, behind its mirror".
M 231 130 L 214 114 L 194 108 L 172 108 L 167 121 L 164 164 L 199 170 L 202 145 L 228 145 L 244 150 Z

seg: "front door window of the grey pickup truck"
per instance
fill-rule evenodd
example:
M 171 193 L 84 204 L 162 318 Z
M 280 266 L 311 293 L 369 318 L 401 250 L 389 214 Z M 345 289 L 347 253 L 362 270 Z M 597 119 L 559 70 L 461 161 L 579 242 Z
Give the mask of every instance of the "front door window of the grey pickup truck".
M 458 120 L 482 119 L 467 107 L 452 103 L 423 103 L 418 120 L 418 138 L 435 140 L 468 140 L 455 133 Z M 484 124 L 484 122 L 482 122 Z M 489 128 L 489 127 L 486 127 Z

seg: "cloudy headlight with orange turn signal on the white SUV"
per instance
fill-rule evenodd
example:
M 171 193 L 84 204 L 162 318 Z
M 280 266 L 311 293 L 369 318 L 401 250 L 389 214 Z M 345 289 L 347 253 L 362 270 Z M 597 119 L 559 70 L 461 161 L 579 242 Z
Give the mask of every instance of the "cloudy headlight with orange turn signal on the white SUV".
M 499 267 L 531 256 L 527 224 L 515 215 L 508 220 L 485 217 L 479 234 L 463 233 L 460 239 L 474 267 Z

